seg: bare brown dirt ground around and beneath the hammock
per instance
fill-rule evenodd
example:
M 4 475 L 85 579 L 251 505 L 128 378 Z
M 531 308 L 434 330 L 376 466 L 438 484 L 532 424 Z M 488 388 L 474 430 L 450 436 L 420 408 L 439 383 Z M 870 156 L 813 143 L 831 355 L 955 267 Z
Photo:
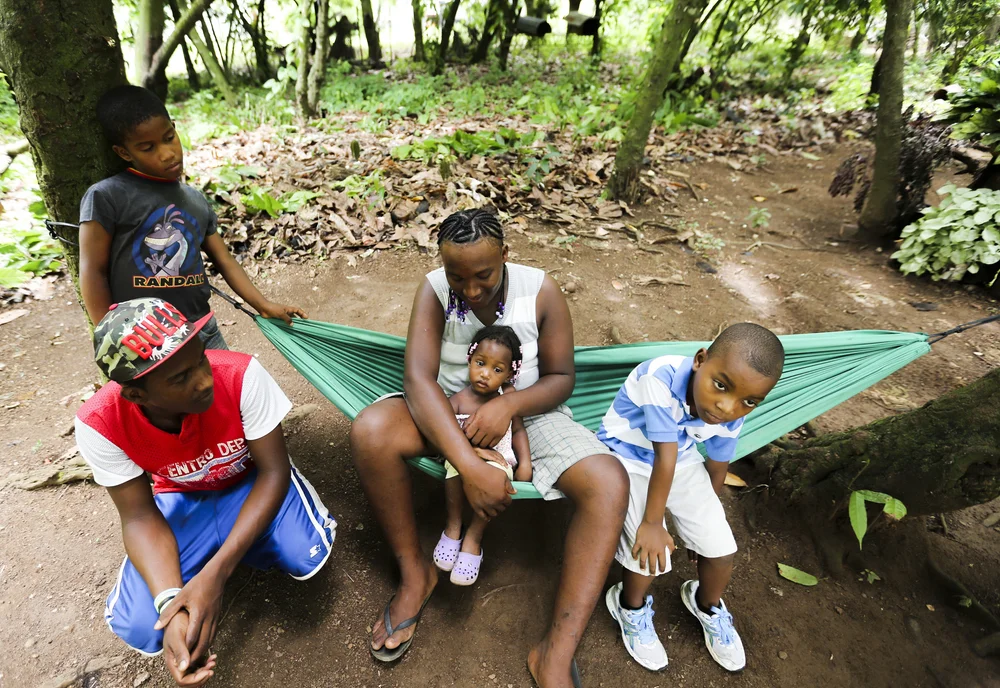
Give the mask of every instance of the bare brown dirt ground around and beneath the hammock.
M 820 162 L 789 156 L 772 174 L 738 173 L 721 164 L 678 166 L 705 184 L 696 187 L 700 200 L 682 194 L 676 207 L 636 213 L 671 224 L 678 218 L 660 211 L 679 213 L 723 239 L 714 273 L 676 243 L 657 244 L 661 253 L 650 253 L 614 230 L 606 239 L 573 242 L 569 251 L 556 243 L 560 235 L 550 225 L 509 224 L 512 259 L 548 270 L 563 285 L 575 283 L 569 297 L 578 344 L 610 343 L 613 329 L 623 341 L 705 340 L 724 323 L 742 320 L 781 333 L 933 332 L 996 312 L 996 301 L 981 290 L 904 278 L 888 264 L 888 252 L 850 240 L 849 203 L 825 191 L 844 150 Z M 776 193 L 790 187 L 797 191 Z M 742 227 L 751 206 L 772 213 L 758 239 L 784 248 L 744 253 L 755 241 Z M 660 231 L 647 226 L 646 234 Z M 805 247 L 820 250 L 799 250 Z M 433 257 L 400 250 L 357 267 L 343 260 L 264 264 L 257 281 L 273 298 L 301 305 L 314 318 L 404 334 L 412 294 L 433 267 Z M 679 276 L 689 286 L 638 287 L 634 275 Z M 460 589 L 443 582 L 405 659 L 391 668 L 376 665 L 366 647 L 368 629 L 392 593 L 395 570 L 351 468 L 348 422 L 247 318 L 225 303 L 215 307 L 233 348 L 259 354 L 296 404 L 319 405 L 287 424 L 289 446 L 339 528 L 335 555 L 309 581 L 238 571 L 227 587 L 212 685 L 530 685 L 525 658 L 551 613 L 568 505 L 515 504 L 491 527 L 479 583 Z M 61 433 L 79 406 L 78 391 L 96 380 L 84 319 L 68 283 L 54 299 L 26 308 L 28 315 L 0 326 L 4 475 L 41 466 L 73 446 L 72 436 Z M 997 365 L 1000 326 L 994 324 L 941 342 L 816 426 L 841 429 L 920 405 Z M 414 485 L 429 552 L 442 525 L 443 493 L 423 476 Z M 851 576 L 803 588 L 775 570 L 784 562 L 819 573 L 796 524 L 778 513 L 749 528 L 735 492 L 727 496 L 727 509 L 741 545 L 727 603 L 747 646 L 746 670 L 730 675 L 709 658 L 677 594 L 693 575 L 678 557 L 674 572 L 653 590 L 669 668 L 652 674 L 629 661 L 601 602 L 577 655 L 585 685 L 1000 686 L 1000 663 L 969 649 L 983 628 L 925 575 L 923 520 L 866 540 L 870 566 L 882 581 Z M 1000 532 L 983 521 L 997 510 L 1000 503 L 949 515 L 947 534 L 935 527 L 928 535 L 947 570 L 995 613 Z M 132 653 L 104 625 L 104 599 L 122 556 L 118 519 L 101 488 L 76 483 L 0 491 L 0 686 L 58 686 L 60 677 L 82 673 L 88 662 L 89 672 L 62 685 L 171 685 L 160 660 Z M 609 583 L 617 575 L 612 570 Z

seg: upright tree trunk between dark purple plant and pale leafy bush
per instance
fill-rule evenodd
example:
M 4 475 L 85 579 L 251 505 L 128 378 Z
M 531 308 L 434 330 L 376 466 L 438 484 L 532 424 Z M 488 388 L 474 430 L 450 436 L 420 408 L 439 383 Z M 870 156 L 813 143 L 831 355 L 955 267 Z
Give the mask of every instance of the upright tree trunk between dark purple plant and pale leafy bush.
M 872 186 L 858 218 L 861 232 L 874 239 L 896 228 L 899 197 L 899 154 L 903 136 L 903 67 L 906 62 L 906 23 L 911 0 L 886 0 L 885 35 L 875 127 L 875 165 Z

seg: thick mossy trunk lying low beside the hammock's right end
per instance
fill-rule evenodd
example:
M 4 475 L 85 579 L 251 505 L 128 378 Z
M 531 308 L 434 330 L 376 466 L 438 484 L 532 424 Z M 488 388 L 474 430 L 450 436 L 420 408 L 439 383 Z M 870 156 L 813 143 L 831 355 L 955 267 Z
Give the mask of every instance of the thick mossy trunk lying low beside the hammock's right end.
M 1000 497 L 998 408 L 1000 368 L 914 411 L 750 461 L 792 504 L 842 508 L 852 490 L 873 490 L 910 516 L 964 509 Z

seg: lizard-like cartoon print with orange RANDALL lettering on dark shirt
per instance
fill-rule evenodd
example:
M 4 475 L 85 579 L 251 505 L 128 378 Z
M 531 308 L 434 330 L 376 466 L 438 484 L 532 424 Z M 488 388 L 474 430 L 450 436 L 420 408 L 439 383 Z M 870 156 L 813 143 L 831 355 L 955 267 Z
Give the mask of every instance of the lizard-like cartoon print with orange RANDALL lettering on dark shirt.
M 200 267 L 198 221 L 176 204 L 149 214 L 136 232 L 132 259 L 138 273 L 136 287 L 189 287 L 204 284 Z

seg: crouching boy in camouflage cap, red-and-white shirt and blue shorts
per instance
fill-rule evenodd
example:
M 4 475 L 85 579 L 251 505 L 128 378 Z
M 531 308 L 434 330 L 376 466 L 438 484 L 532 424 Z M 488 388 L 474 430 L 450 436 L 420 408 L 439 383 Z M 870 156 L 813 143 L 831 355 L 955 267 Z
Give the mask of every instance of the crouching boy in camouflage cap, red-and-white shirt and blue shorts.
M 212 675 L 208 648 L 236 565 L 309 578 L 337 526 L 288 459 L 291 402 L 252 356 L 205 351 L 196 335 L 211 317 L 191 321 L 160 299 L 112 304 L 94 330 L 111 382 L 76 416 L 128 553 L 104 618 L 134 650 L 164 651 L 183 686 Z

